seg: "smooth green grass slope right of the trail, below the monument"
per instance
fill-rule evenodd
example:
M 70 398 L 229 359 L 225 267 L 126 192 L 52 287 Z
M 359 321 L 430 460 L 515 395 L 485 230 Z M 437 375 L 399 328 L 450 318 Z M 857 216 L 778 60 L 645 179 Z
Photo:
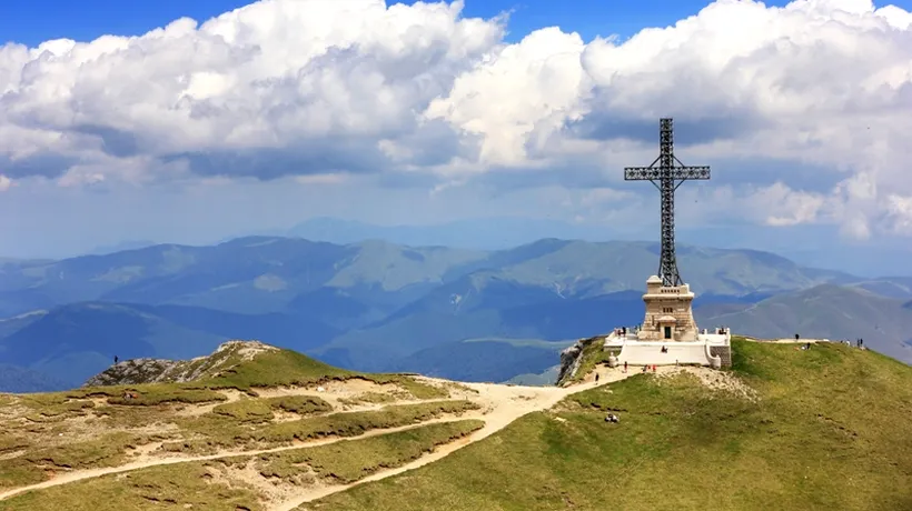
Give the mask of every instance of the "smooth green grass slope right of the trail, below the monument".
M 637 374 L 308 509 L 912 509 L 912 369 L 841 344 L 733 349 L 756 402 Z

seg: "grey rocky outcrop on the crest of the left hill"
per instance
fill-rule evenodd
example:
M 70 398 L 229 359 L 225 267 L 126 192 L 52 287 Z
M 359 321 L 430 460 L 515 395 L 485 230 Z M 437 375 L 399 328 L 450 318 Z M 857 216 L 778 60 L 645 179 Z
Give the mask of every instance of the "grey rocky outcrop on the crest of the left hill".
M 216 378 L 244 360 L 278 348 L 259 341 L 228 341 L 212 354 L 191 360 L 132 359 L 111 365 L 90 378 L 83 387 L 135 385 L 140 383 L 187 382 Z

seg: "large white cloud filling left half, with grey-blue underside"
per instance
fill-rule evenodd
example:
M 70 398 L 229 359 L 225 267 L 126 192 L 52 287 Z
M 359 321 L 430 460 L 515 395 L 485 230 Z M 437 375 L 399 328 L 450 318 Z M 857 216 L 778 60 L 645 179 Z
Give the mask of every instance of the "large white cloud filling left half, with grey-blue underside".
M 419 126 L 415 112 L 504 30 L 460 9 L 272 0 L 141 37 L 7 44 L 0 153 L 21 174 L 50 178 L 141 156 L 202 176 L 383 170 L 380 142 L 397 140 L 415 146 L 417 163 L 435 163 L 422 146 L 452 139 L 454 150 L 457 136 Z M 44 152 L 53 164 L 16 163 Z

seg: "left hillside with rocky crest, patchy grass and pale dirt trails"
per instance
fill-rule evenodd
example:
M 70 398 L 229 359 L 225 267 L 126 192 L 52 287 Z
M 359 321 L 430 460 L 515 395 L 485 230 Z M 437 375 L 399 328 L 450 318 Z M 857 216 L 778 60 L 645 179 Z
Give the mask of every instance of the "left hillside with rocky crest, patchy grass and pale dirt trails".
M 127 361 L 90 383 L 0 395 L 0 508 L 290 510 L 440 459 L 569 392 L 357 373 L 246 341 Z

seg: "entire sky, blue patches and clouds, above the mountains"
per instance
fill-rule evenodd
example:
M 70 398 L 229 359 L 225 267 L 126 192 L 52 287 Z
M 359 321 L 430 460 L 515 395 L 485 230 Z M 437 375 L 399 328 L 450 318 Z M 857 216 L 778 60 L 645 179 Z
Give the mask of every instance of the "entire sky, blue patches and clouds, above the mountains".
M 0 41 L 138 37 L 246 3 L 8 1 Z M 205 31 L 0 46 L 0 257 L 316 217 L 653 239 L 657 196 L 622 176 L 655 158 L 665 116 L 680 158 L 713 166 L 678 191 L 682 232 L 701 233 L 686 241 L 905 257 L 912 0 L 466 0 L 462 18 L 407 3 L 285 0 Z

